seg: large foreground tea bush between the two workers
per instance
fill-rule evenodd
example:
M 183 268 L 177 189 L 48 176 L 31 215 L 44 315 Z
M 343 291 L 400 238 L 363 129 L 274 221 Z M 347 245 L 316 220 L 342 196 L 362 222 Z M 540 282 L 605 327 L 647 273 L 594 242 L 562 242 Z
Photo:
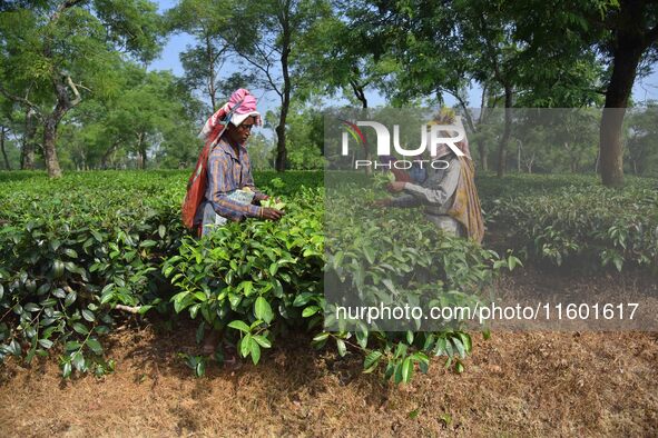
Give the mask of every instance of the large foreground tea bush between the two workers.
M 370 190 L 361 191 L 357 199 L 373 196 Z M 342 286 L 366 295 L 364 301 L 390 305 L 393 301 L 386 288 L 401 276 L 424 269 L 431 273 L 426 291 L 432 293 L 426 295 L 435 302 L 423 305 L 472 306 L 472 296 L 490 285 L 503 266 L 518 260 L 510 257 L 501 262 L 495 252 L 442 236 L 430 225 L 411 227 L 403 211 L 387 213 L 385 226 L 410 239 L 396 239 L 393 233 L 377 239 L 381 215 L 364 219 L 372 207 L 354 199 L 341 196 L 327 200 L 323 209 L 321 189 L 302 189 L 283 198 L 288 209 L 278 222 L 248 220 L 218 228 L 202 240 L 184 239 L 179 253 L 164 263 L 163 272 L 179 290 L 173 297 L 175 311 L 186 310 L 199 320 L 197 341 L 213 327 L 233 337 L 240 356 L 257 364 L 262 349 L 271 348 L 282 334 L 304 328 L 314 335 L 315 347 L 331 339 L 342 356 L 350 348 L 360 350 L 366 371 L 386 362 L 385 375 L 396 382 L 409 381 L 416 364 L 426 371 L 430 355 L 448 356 L 449 365 L 456 356 L 455 369 L 463 369 L 459 358 L 470 351 L 471 338 L 459 327 L 414 334 L 420 329 L 415 327 L 400 334 L 376 327 L 371 331 L 361 325 L 357 330 L 323 331 L 325 316 L 332 316 L 323 281 L 340 277 Z M 333 240 L 325 247 L 327 222 L 344 232 L 340 232 L 340 243 Z M 414 240 L 418 236 L 428 237 Z M 375 260 L 379 255 L 384 258 Z M 409 293 L 396 298 L 400 302 L 414 300 Z M 198 359 L 190 362 L 197 374 L 199 364 Z

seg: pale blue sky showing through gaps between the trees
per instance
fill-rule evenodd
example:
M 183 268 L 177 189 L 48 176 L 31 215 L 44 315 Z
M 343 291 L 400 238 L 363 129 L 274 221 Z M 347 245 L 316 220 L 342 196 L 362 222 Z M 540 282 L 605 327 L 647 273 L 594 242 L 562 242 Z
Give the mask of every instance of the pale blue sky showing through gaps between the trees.
M 167 9 L 173 8 L 178 1 L 177 0 L 159 0 L 157 1 L 159 11 L 164 12 Z M 184 74 L 183 67 L 179 60 L 179 53 L 185 50 L 187 46 L 194 44 L 194 39 L 188 34 L 175 34 L 169 37 L 167 44 L 165 46 L 160 58 L 155 60 L 150 66 L 150 70 L 171 70 L 174 74 L 181 77 Z M 236 71 L 235 63 L 230 66 L 230 62 L 226 62 L 223 72 L 232 73 Z M 269 110 L 275 110 L 279 106 L 278 96 L 275 92 L 256 92 L 258 98 L 258 109 L 265 115 Z M 469 90 L 469 103 L 470 107 L 480 106 L 481 89 L 479 87 L 472 87 Z M 658 100 L 658 69 L 649 74 L 648 77 L 636 80 L 632 89 L 632 97 L 638 104 L 646 102 L 647 100 Z M 383 106 L 386 103 L 383 96 L 379 92 L 369 90 L 366 91 L 366 98 L 370 107 Z M 453 106 L 455 103 L 454 98 L 445 96 L 445 104 Z M 335 99 L 335 104 L 344 104 L 344 100 Z

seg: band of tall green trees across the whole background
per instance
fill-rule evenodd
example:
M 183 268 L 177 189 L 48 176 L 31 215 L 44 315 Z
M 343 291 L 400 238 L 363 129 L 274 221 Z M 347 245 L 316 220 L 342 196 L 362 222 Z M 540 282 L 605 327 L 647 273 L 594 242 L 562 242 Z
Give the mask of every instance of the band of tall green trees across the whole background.
M 191 41 L 180 78 L 149 68 L 174 34 Z M 599 171 L 619 186 L 656 153 L 652 111 L 625 122 L 623 108 L 654 71 L 657 39 L 648 0 L 180 0 L 164 12 L 147 0 L 6 1 L 0 163 L 52 177 L 190 166 L 200 125 L 243 87 L 275 97 L 258 153 L 279 171 L 322 166 L 323 107 L 367 109 L 380 93 L 394 107 L 454 102 L 481 169 Z M 598 138 L 588 125 L 556 147 L 513 108 L 605 110 L 580 120 Z

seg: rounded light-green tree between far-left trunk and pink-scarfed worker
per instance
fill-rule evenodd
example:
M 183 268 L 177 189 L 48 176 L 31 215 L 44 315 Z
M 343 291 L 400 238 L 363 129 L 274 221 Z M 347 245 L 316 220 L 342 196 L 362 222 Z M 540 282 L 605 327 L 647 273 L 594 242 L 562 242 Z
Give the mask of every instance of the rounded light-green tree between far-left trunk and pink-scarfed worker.
M 147 72 L 132 62 L 116 71 L 120 81 L 112 94 L 87 99 L 62 128 L 62 150 L 76 167 L 114 167 L 115 157 L 135 157 L 141 169 L 151 158 L 171 167 L 191 161 L 199 146 L 194 125 L 200 102 L 168 71 Z

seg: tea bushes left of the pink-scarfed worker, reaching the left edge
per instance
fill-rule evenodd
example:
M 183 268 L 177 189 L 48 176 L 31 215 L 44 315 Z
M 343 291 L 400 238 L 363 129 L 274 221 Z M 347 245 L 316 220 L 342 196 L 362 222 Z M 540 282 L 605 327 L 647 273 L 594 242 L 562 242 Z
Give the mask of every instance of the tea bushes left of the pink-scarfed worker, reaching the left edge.
M 65 377 L 114 368 L 101 345 L 111 309 L 158 306 L 158 268 L 183 231 L 184 179 L 161 181 L 108 172 L 3 185 L 0 359 L 29 364 L 57 344 Z

